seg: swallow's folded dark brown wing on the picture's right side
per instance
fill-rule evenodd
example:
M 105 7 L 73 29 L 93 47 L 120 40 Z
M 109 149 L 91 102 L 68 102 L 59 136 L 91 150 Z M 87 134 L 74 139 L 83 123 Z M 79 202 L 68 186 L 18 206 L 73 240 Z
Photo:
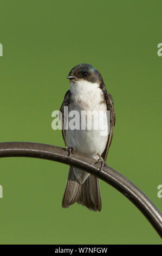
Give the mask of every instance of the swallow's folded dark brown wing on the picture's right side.
M 108 140 L 107 140 L 106 148 L 105 148 L 105 150 L 103 151 L 103 153 L 101 155 L 103 160 L 106 161 L 108 150 L 109 150 L 109 147 L 110 147 L 111 142 L 112 142 L 113 130 L 114 130 L 114 126 L 115 126 L 115 111 L 114 111 L 113 98 L 107 92 L 106 89 L 104 91 L 104 96 L 105 96 L 105 100 L 106 100 L 107 110 L 110 111 L 110 127 L 109 127 Z

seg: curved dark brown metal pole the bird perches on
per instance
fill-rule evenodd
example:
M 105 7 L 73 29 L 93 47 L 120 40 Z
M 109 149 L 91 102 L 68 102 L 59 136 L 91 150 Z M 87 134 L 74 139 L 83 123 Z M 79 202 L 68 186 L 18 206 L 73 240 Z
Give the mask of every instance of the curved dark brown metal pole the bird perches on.
M 53 145 L 31 142 L 0 143 L 0 157 L 12 156 L 35 157 L 38 159 L 57 161 L 69 164 L 70 166 L 79 167 L 97 176 L 116 188 L 116 190 L 124 194 L 125 197 L 137 206 L 162 238 L 161 212 L 137 186 L 120 173 L 116 172 L 113 168 L 105 166 L 103 170 L 100 171 L 100 163 L 96 163 L 93 158 L 78 153 L 75 155 L 72 154 L 71 157 L 69 157 L 67 151 Z

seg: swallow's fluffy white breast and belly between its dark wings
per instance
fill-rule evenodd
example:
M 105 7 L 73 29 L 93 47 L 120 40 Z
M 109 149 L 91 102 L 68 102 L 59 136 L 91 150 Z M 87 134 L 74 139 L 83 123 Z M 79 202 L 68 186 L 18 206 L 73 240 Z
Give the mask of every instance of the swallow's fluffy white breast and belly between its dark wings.
M 77 83 L 70 82 L 70 92 L 69 111 L 78 111 L 80 115 L 81 111 L 88 111 L 92 117 L 94 117 L 93 111 L 106 113 L 107 106 L 99 84 L 85 80 L 77 81 Z M 95 127 L 95 121 L 96 119 L 94 118 L 93 127 Z M 100 121 L 107 124 L 107 115 L 103 115 Z M 80 130 L 68 129 L 66 131 L 66 144 L 68 147 L 73 147 L 76 151 L 95 159 L 99 159 L 98 154 L 101 155 L 105 150 L 107 139 L 108 135 L 102 136 L 100 128 L 98 130 L 81 130 L 80 125 Z

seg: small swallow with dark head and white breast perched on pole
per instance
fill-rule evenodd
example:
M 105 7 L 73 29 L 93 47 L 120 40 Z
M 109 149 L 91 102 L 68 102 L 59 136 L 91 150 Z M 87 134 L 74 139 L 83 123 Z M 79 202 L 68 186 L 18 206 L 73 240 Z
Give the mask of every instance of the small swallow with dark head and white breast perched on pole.
M 82 63 L 74 66 L 67 76 L 70 89 L 64 96 L 60 113 L 62 114 L 62 136 L 69 154 L 78 152 L 93 157 L 101 162 L 101 168 L 106 164 L 109 147 L 112 142 L 115 126 L 114 103 L 111 94 L 106 90 L 100 72 L 92 65 Z M 70 111 L 81 113 L 93 113 L 93 111 L 109 111 L 109 133 L 101 136 L 101 130 L 87 129 L 65 129 L 64 107 Z M 92 114 L 93 115 L 93 114 Z M 89 119 L 87 115 L 86 121 Z M 71 118 L 72 119 L 72 118 Z M 108 123 L 105 117 L 102 121 Z M 70 118 L 68 117 L 68 122 Z M 95 123 L 95 120 L 93 121 Z M 99 179 L 76 167 L 70 166 L 66 189 L 63 194 L 62 207 L 68 208 L 77 202 L 92 211 L 101 211 L 101 194 Z

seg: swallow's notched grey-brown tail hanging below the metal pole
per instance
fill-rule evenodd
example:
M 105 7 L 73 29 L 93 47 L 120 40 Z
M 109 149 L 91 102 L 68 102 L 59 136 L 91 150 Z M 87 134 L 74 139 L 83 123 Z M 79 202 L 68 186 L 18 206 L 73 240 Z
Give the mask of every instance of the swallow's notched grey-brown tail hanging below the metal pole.
M 70 167 L 62 207 L 67 208 L 75 202 L 85 205 L 89 210 L 101 211 L 99 179 L 90 174 L 83 184 L 80 184 L 73 167 Z

